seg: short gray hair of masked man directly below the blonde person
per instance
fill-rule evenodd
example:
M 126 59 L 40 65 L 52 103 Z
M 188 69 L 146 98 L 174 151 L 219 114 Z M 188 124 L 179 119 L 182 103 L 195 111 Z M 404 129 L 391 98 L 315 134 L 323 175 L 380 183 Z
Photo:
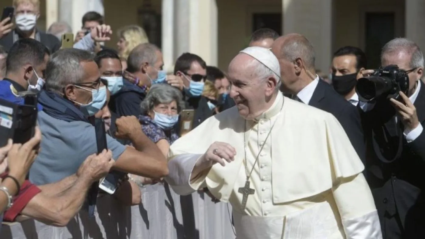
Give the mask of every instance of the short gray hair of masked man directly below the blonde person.
M 127 71 L 131 73 L 139 71 L 144 62 L 147 62 L 149 65 L 155 65 L 156 60 L 158 60 L 156 56 L 157 51 L 161 50 L 151 43 L 139 44 L 128 55 Z

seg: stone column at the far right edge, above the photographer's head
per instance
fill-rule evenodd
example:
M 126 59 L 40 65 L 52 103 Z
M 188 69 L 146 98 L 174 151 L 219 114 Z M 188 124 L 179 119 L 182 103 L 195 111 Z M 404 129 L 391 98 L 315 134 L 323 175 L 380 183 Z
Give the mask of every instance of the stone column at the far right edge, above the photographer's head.
M 425 51 L 425 9 L 424 0 L 405 0 L 405 29 L 406 37 L 413 40 Z

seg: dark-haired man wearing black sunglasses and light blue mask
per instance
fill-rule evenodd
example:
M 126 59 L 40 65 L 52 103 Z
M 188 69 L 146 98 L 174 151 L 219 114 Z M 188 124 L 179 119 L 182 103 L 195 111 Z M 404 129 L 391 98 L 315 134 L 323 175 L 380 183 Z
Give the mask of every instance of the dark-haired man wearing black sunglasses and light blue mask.
M 201 96 L 207 79 L 207 64 L 198 55 L 184 53 L 176 60 L 174 74 L 183 80 L 186 109 L 195 110 L 192 127 L 195 128 L 213 114 L 208 100 Z

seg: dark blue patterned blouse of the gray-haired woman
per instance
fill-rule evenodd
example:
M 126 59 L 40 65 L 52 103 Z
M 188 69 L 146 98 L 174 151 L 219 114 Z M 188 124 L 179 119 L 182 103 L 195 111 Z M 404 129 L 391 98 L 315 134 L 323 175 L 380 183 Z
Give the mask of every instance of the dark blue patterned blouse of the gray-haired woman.
M 143 133 L 146 134 L 146 136 L 154 143 L 158 142 L 161 139 L 167 139 L 168 143 L 171 145 L 174 141 L 178 139 L 178 134 L 173 128 L 164 131 L 158 125 L 156 125 L 155 122 L 153 122 L 153 120 L 149 116 L 140 115 L 139 121 L 142 125 Z

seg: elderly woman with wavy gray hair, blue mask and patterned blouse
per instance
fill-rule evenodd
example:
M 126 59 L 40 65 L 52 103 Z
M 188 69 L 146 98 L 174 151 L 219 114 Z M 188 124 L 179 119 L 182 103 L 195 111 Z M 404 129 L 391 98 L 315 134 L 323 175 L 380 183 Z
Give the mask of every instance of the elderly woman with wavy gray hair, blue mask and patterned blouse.
M 142 130 L 167 156 L 170 145 L 178 139 L 174 126 L 184 107 L 181 92 L 168 84 L 153 85 L 141 103 Z

